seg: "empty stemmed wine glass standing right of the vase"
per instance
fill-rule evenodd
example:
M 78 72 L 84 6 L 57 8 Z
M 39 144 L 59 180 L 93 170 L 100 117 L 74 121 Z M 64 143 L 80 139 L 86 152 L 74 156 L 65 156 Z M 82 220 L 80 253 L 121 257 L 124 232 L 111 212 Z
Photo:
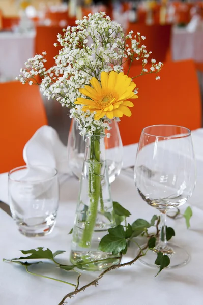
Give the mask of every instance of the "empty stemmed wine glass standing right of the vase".
M 141 132 L 134 172 L 139 195 L 160 211 L 161 234 L 153 250 L 140 261 L 150 266 L 157 253 L 170 257 L 169 267 L 185 264 L 189 254 L 166 240 L 166 214 L 184 204 L 196 181 L 191 131 L 175 125 L 153 125 Z

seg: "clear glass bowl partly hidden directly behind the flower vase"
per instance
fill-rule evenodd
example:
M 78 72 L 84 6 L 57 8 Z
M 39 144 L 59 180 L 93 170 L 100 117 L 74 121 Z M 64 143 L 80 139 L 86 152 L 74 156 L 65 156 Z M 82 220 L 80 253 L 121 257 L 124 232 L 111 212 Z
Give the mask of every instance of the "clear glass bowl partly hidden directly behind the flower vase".
M 123 144 L 116 121 L 112 121 L 110 138 L 105 137 L 106 162 L 108 168 L 109 182 L 113 182 L 122 168 L 123 164 Z M 108 131 L 107 131 L 108 132 Z M 73 175 L 77 178 L 81 177 L 82 166 L 84 161 L 84 152 L 86 136 L 79 134 L 78 123 L 72 119 L 71 128 L 68 136 L 68 164 Z

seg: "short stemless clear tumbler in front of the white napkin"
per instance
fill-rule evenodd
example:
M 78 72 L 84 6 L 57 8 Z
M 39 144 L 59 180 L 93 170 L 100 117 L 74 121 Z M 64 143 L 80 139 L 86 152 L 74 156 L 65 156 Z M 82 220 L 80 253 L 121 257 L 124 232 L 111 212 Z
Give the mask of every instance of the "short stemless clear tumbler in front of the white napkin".
M 18 230 L 25 236 L 50 233 L 59 203 L 57 170 L 47 166 L 21 166 L 9 172 L 9 204 Z

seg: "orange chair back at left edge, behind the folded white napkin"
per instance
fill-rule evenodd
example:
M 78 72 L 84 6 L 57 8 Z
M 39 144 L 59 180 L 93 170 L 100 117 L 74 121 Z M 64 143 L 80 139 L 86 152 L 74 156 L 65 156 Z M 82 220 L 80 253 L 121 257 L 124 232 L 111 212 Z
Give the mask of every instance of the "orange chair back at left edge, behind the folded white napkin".
M 0 173 L 24 165 L 22 152 L 38 128 L 47 124 L 38 86 L 0 83 Z

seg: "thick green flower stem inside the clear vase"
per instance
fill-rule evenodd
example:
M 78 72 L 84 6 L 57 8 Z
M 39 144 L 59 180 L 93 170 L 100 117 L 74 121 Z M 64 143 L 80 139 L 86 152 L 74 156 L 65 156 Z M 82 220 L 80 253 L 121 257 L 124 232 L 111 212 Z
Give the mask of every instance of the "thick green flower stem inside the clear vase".
M 88 209 L 85 228 L 83 230 L 83 235 L 79 245 L 82 248 L 89 248 L 91 245 L 101 193 L 100 140 L 97 137 L 93 136 L 90 141 L 91 148 L 88 184 L 90 206 Z

